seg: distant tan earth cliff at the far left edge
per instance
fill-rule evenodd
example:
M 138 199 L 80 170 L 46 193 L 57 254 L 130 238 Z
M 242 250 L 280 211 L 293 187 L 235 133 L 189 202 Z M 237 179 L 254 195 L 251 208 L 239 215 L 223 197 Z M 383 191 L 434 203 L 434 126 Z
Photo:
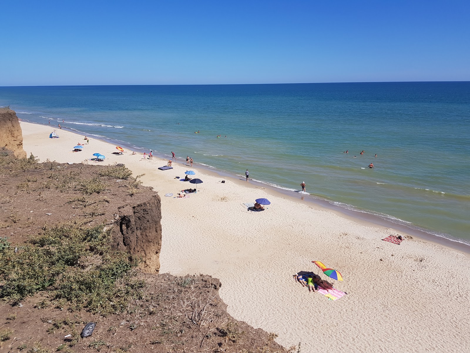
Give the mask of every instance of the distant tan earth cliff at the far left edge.
M 23 149 L 23 135 L 16 112 L 0 108 L 0 147 L 6 147 L 16 157 L 26 157 Z

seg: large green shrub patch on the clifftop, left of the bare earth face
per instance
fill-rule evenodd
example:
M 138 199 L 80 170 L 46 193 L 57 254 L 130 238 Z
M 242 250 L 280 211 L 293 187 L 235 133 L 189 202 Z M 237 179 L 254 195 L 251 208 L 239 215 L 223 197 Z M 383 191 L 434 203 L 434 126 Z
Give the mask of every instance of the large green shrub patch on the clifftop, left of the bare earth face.
M 18 302 L 47 290 L 72 310 L 123 311 L 129 297 L 139 297 L 140 285 L 128 275 L 138 261 L 112 251 L 109 238 L 103 225 L 71 223 L 45 227 L 20 249 L 1 247 L 0 297 Z

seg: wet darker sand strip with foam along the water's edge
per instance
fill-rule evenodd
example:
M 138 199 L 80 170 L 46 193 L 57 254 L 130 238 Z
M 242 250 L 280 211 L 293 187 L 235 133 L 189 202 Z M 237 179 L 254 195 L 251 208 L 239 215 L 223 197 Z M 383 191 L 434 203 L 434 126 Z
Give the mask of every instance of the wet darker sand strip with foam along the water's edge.
M 52 127 L 49 124 L 42 124 L 42 123 L 38 123 L 38 122 L 28 121 L 28 120 L 25 120 L 25 119 L 20 119 L 20 122 L 25 122 L 25 123 L 28 123 L 28 124 L 34 124 L 34 125 L 45 126 L 45 127 L 47 127 L 47 126 Z M 80 138 L 83 137 L 82 135 L 93 136 L 93 138 L 95 140 L 99 140 L 99 141 L 105 142 L 107 144 L 114 145 L 116 143 L 119 143 L 123 148 L 126 148 L 126 149 L 131 150 L 131 151 L 139 152 L 139 153 L 141 153 L 142 151 L 143 152 L 148 152 L 150 150 L 148 148 L 141 147 L 141 146 L 136 146 L 136 145 L 130 144 L 130 143 L 125 142 L 125 141 L 112 139 L 112 138 L 107 137 L 107 136 L 95 136 L 93 134 L 86 134 L 85 132 L 78 131 L 75 128 L 63 127 L 62 129 L 60 129 L 60 128 L 54 128 L 54 129 L 71 132 L 75 135 L 80 136 Z M 165 155 L 165 154 L 160 153 L 160 152 L 157 152 L 157 153 L 154 153 L 154 157 L 157 157 L 157 158 L 160 158 L 160 159 L 166 161 L 165 159 L 169 158 L 171 156 Z M 185 164 L 183 163 L 183 165 L 185 165 Z M 214 176 L 221 176 L 221 177 L 225 177 L 225 178 L 230 178 L 233 182 L 234 181 L 235 182 L 242 181 L 242 179 L 240 179 L 240 176 L 237 176 L 237 175 L 232 174 L 230 172 L 226 172 L 224 170 L 219 170 L 215 167 L 201 165 L 200 163 L 197 163 L 197 162 L 194 162 L 192 168 L 200 168 L 200 169 L 204 170 L 204 172 L 210 173 Z M 243 178 L 243 181 L 244 181 L 244 178 Z M 291 191 L 291 190 L 285 189 L 283 187 L 273 186 L 272 183 L 270 184 L 269 182 L 263 182 L 263 181 L 257 181 L 257 180 L 251 179 L 250 183 L 248 185 L 245 185 L 245 184 L 246 183 L 244 183 L 242 185 L 244 185 L 244 186 L 254 185 L 254 187 L 256 187 L 256 188 L 264 188 L 266 190 L 272 191 L 273 193 L 278 193 L 278 194 L 281 194 L 283 196 L 287 196 L 291 200 L 297 201 L 299 203 L 303 203 L 303 201 L 306 201 L 309 204 L 313 204 L 316 209 L 327 210 L 327 211 L 330 211 L 330 212 L 333 212 L 333 213 L 337 214 L 340 217 L 345 217 L 347 219 L 350 219 L 352 221 L 355 221 L 355 222 L 358 222 L 358 223 L 361 223 L 361 224 L 364 224 L 364 225 L 372 225 L 372 226 L 376 226 L 376 227 L 380 227 L 380 228 L 388 228 L 388 229 L 394 230 L 396 232 L 405 233 L 409 236 L 416 237 L 416 238 L 418 238 L 422 241 L 431 242 L 433 244 L 438 244 L 440 246 L 462 252 L 462 253 L 464 253 L 464 254 L 466 254 L 467 256 L 470 257 L 470 244 L 462 242 L 463 240 L 457 240 L 456 238 L 454 238 L 450 234 L 443 234 L 442 236 L 437 235 L 437 234 L 433 234 L 433 233 L 430 233 L 432 231 L 427 230 L 427 229 L 425 229 L 423 227 L 420 227 L 420 226 L 417 226 L 417 225 L 413 225 L 415 228 L 412 228 L 411 226 L 408 226 L 408 225 L 405 225 L 405 224 L 395 223 L 391 219 L 386 219 L 388 215 L 384 215 L 384 217 L 381 217 L 381 216 L 378 216 L 378 215 L 375 215 L 373 213 L 368 212 L 370 210 L 347 209 L 345 207 L 341 207 L 341 206 L 333 204 L 333 202 L 335 202 L 335 201 L 329 201 L 327 199 L 321 198 L 319 196 L 316 196 L 316 195 L 310 194 L 310 193 L 300 194 L 298 191 Z M 352 206 L 352 207 L 354 207 L 354 206 Z M 401 220 L 399 220 L 399 221 L 401 221 Z M 444 235 L 447 235 L 451 238 L 454 238 L 455 240 L 447 238 Z

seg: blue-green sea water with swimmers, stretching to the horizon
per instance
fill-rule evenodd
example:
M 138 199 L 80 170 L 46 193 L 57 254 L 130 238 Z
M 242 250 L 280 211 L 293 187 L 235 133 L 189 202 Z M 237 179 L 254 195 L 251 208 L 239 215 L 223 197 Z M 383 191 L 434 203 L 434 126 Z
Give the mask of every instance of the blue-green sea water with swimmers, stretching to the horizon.
M 470 82 L 0 87 L 8 104 L 470 244 Z

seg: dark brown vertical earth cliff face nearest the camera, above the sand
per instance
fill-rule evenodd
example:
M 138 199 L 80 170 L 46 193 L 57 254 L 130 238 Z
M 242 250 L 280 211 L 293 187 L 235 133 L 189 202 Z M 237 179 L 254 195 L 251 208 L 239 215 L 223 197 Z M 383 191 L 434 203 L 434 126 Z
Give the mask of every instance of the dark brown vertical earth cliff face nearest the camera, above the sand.
M 113 245 L 116 250 L 127 251 L 141 257 L 141 270 L 158 273 L 159 253 L 162 247 L 162 219 L 160 197 L 153 194 L 148 201 L 119 208 L 117 223 L 113 228 Z

